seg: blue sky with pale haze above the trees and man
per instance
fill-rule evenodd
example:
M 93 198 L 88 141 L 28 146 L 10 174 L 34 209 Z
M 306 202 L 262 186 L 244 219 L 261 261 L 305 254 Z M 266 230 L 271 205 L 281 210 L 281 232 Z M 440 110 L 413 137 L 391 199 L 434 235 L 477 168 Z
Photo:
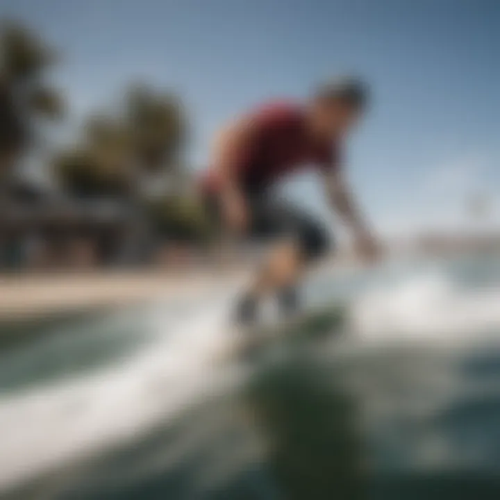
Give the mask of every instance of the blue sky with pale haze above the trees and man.
M 500 229 L 500 1 L 0 0 L 3 16 L 62 52 L 67 130 L 130 81 L 178 92 L 194 168 L 241 111 L 363 76 L 373 102 L 345 167 L 374 226 Z M 324 213 L 320 188 L 305 174 L 286 190 Z M 475 193 L 492 200 L 481 221 L 466 210 Z

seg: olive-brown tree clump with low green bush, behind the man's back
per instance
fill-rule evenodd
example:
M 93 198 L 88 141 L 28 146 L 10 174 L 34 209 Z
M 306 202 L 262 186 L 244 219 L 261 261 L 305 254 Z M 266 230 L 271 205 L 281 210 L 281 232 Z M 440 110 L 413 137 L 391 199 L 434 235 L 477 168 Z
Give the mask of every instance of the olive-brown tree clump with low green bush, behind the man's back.
M 56 176 L 73 194 L 127 201 L 134 240 L 144 243 L 152 234 L 206 240 L 203 210 L 185 189 L 187 130 L 178 99 L 136 85 L 122 102 L 122 113 L 85 122 L 78 146 L 54 159 Z

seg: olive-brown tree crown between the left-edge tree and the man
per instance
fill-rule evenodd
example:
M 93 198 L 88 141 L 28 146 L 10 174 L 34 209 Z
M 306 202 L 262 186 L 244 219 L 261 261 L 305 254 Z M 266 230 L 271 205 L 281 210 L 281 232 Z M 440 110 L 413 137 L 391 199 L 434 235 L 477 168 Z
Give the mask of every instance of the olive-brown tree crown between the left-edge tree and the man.
M 145 178 L 165 173 L 174 182 L 182 178 L 183 122 L 174 95 L 135 86 L 126 92 L 122 113 L 85 122 L 78 147 L 56 156 L 56 175 L 73 192 L 115 192 L 137 201 Z

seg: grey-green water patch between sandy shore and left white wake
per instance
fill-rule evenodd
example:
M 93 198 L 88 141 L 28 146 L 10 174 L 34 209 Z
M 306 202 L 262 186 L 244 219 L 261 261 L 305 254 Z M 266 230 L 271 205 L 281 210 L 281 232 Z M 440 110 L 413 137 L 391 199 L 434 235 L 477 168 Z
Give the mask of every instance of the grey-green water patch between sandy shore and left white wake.
M 141 306 L 0 324 L 0 396 L 106 367 L 151 339 Z

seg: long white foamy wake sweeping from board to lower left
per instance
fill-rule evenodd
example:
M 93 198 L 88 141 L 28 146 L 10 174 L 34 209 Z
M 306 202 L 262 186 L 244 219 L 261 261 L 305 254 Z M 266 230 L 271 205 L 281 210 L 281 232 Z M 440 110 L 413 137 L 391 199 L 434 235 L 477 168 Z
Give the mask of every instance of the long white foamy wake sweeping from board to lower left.
M 193 305 L 169 326 L 171 315 L 157 311 L 158 338 L 120 365 L 1 398 L 0 491 L 133 439 L 210 394 L 221 383 L 213 360 L 228 344 L 229 295 Z

